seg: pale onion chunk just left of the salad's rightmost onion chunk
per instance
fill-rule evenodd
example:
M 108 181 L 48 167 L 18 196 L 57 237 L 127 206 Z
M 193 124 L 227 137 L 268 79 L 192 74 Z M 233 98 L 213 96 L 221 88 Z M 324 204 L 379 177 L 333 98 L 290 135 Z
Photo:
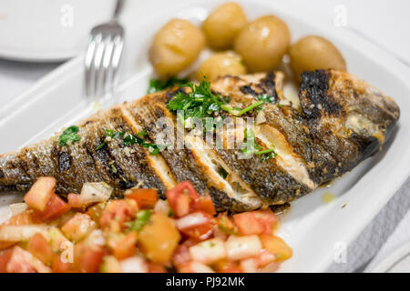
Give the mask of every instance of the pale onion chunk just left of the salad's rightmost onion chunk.
M 190 246 L 190 257 L 203 264 L 212 264 L 226 257 L 225 242 L 220 238 L 212 238 Z

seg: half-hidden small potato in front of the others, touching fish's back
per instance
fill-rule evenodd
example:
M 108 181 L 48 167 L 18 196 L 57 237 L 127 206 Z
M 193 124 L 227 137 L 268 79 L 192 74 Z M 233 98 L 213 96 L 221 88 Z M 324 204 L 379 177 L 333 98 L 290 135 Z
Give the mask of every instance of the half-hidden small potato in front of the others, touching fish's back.
M 233 52 L 216 53 L 211 55 L 200 65 L 197 72 L 199 80 L 204 77 L 208 81 L 213 81 L 220 75 L 241 75 L 246 74 L 246 67 L 241 61 L 241 56 Z

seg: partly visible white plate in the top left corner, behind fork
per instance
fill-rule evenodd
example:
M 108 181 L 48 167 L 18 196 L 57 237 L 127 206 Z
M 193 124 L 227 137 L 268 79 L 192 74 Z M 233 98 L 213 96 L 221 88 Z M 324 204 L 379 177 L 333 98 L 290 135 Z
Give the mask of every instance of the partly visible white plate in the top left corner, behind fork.
M 84 51 L 94 25 L 108 21 L 115 0 L 2 0 L 0 57 L 61 61 Z

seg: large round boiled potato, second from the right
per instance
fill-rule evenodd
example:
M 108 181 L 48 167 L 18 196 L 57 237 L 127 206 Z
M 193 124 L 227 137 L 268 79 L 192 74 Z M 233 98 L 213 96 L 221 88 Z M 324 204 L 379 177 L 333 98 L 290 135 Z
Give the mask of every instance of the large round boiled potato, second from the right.
M 269 71 L 279 65 L 291 42 L 288 25 L 280 18 L 262 16 L 245 26 L 235 41 L 250 72 Z

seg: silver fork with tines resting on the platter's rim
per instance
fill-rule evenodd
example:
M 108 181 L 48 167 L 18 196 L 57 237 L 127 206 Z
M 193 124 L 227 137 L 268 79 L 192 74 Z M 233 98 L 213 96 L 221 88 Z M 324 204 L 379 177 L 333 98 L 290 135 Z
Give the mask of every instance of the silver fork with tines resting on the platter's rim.
M 118 23 L 123 4 L 124 0 L 118 0 L 112 19 L 91 30 L 84 61 L 87 97 L 114 95 L 124 46 L 124 28 Z

